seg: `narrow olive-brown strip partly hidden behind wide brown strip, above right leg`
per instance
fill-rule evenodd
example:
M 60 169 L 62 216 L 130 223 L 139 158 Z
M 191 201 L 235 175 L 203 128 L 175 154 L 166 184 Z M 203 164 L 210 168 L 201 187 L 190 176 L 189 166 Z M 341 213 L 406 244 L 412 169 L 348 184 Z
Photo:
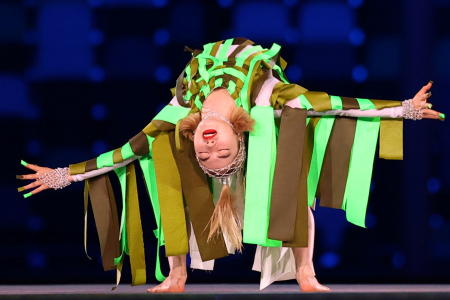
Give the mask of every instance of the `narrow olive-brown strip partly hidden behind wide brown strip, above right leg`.
M 306 127 L 305 143 L 302 155 L 302 169 L 300 172 L 299 195 L 297 198 L 297 214 L 295 216 L 294 238 L 283 243 L 284 247 L 308 246 L 308 173 L 314 146 L 314 130 L 320 118 L 313 117 Z

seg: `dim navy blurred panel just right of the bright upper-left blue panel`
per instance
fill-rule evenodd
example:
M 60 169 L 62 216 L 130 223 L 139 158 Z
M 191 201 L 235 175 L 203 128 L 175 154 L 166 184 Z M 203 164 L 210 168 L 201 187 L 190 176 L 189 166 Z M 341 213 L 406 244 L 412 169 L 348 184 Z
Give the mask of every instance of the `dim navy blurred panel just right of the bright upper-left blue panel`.
M 144 36 L 124 36 L 112 40 L 106 50 L 108 78 L 150 79 L 158 61 L 156 47 Z

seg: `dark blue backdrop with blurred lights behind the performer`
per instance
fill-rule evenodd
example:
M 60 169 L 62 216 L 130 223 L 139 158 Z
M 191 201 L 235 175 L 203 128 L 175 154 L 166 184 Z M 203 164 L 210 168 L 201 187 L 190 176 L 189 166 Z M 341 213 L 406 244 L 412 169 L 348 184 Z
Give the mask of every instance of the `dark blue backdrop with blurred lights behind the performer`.
M 19 161 L 67 166 L 122 145 L 170 100 L 184 45 L 237 36 L 281 44 L 288 77 L 310 90 L 403 100 L 431 79 L 431 102 L 450 113 L 448 0 L 2 0 L 0 283 L 114 282 L 92 218 L 96 259 L 83 254 L 82 184 L 23 199 Z M 375 163 L 367 229 L 317 210 L 320 279 L 450 280 L 448 124 L 405 122 L 405 160 Z M 154 282 L 153 217 L 141 195 Z M 189 280 L 256 282 L 253 253 L 248 245 Z

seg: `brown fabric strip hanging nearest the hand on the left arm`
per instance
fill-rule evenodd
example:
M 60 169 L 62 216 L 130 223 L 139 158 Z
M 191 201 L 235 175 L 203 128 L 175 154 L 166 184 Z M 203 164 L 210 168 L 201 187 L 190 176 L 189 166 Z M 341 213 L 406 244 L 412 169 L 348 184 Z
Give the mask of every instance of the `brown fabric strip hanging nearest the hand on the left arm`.
M 119 217 L 111 182 L 107 174 L 89 178 L 89 196 L 97 227 L 103 269 L 114 270 L 120 255 Z

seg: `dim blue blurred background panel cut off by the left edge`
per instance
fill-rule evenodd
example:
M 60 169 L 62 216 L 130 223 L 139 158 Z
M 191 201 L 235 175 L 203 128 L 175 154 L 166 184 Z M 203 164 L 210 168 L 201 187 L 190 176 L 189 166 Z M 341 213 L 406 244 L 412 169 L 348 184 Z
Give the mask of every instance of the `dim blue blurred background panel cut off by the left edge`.
M 18 76 L 0 73 L 0 116 L 36 119 L 38 109 L 28 99 L 28 85 Z

